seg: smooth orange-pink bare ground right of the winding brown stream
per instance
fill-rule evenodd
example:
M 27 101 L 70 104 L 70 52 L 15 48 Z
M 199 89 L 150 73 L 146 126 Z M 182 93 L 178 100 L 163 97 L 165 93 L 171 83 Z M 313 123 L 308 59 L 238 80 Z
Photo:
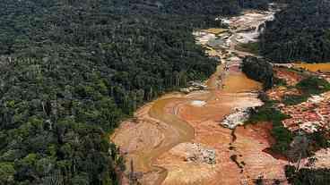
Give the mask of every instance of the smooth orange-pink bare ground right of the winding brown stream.
M 236 185 L 243 182 L 252 184 L 253 179 L 260 175 L 265 178 L 284 179 L 282 167 L 287 163 L 264 152 L 272 142 L 269 128 L 253 125 L 247 128 L 239 127 L 235 132 L 237 139 L 230 144 L 231 130 L 219 126 L 219 120 L 224 115 L 230 114 L 231 108 L 235 107 L 233 102 L 242 105 L 242 102 L 248 102 L 249 98 L 252 100 L 256 97 L 249 97 L 247 94 L 238 97 L 225 93 L 219 93 L 218 96 L 221 98 L 209 100 L 204 107 L 196 107 L 188 103 L 178 105 L 178 116 L 189 122 L 195 129 L 193 142 L 213 148 L 216 153 L 216 163 L 210 165 L 187 162 L 185 154 L 179 148 L 189 147 L 189 145 L 188 143 L 180 144 L 179 147 L 174 147 L 164 153 L 156 161 L 157 165 L 168 170 L 168 176 L 163 184 Z M 230 156 L 233 155 L 238 156 L 243 169 L 230 160 Z

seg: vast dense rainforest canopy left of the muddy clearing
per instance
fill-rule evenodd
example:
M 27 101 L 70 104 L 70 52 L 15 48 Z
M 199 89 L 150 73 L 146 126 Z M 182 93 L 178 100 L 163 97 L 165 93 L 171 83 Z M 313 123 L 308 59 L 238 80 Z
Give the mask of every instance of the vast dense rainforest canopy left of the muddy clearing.
M 266 0 L 0 2 L 0 184 L 116 184 L 107 133 L 215 69 L 193 29 Z

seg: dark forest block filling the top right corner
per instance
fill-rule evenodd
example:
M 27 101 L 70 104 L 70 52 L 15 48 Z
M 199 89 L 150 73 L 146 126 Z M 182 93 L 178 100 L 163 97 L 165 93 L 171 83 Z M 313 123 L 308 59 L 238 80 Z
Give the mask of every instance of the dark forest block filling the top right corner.
M 261 54 L 276 63 L 330 60 L 330 2 L 292 0 L 266 22 L 260 37 Z

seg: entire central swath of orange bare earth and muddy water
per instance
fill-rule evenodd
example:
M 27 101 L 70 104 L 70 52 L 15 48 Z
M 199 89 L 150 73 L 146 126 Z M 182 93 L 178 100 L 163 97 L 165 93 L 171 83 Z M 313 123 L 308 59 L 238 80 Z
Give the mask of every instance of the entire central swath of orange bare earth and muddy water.
M 247 16 L 251 23 L 254 18 L 265 21 L 261 18 L 269 14 Z M 231 30 L 234 37 L 229 40 L 235 39 L 245 14 L 241 16 L 233 19 L 236 29 Z M 239 126 L 234 134 L 221 126 L 224 117 L 236 109 L 261 105 L 255 91 L 262 87 L 240 71 L 237 55 L 245 54 L 231 49 L 216 51 L 226 58 L 225 63 L 205 83 L 204 91 L 172 93 L 144 105 L 135 119 L 123 122 L 110 137 L 126 157 L 126 177 L 131 181 L 137 179 L 143 185 L 237 185 L 253 184 L 258 177 L 285 179 L 283 166 L 287 162 L 265 152 L 273 142 L 271 124 Z

